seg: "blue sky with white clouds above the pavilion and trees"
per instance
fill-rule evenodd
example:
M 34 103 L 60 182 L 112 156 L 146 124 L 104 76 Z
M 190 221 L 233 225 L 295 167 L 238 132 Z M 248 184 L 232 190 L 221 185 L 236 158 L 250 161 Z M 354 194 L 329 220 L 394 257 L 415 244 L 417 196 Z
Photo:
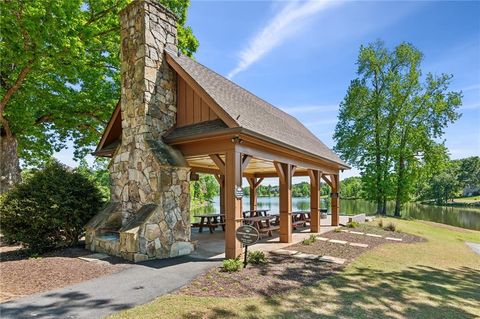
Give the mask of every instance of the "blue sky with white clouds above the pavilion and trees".
M 299 118 L 333 147 L 338 105 L 361 44 L 406 41 L 424 73 L 453 74 L 460 120 L 445 132 L 452 158 L 480 155 L 480 2 L 195 1 L 195 58 Z M 71 151 L 57 154 L 74 166 Z M 357 175 L 345 172 L 342 178 Z

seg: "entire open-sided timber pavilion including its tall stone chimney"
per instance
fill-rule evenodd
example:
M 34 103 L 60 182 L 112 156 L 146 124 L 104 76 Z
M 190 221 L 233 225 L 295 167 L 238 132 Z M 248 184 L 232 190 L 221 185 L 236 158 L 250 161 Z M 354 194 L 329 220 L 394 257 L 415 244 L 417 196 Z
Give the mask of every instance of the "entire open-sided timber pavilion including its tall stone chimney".
M 152 0 L 120 13 L 122 96 L 95 151 L 112 158 L 112 197 L 87 225 L 87 247 L 134 261 L 189 254 L 188 172 L 221 185 L 227 258 L 241 254 L 235 191 L 243 177 L 251 210 L 262 179 L 279 178 L 281 242 L 292 241 L 293 176 L 310 177 L 311 231 L 320 228 L 321 180 L 338 225 L 339 172 L 348 165 L 294 117 L 179 54 L 176 19 Z

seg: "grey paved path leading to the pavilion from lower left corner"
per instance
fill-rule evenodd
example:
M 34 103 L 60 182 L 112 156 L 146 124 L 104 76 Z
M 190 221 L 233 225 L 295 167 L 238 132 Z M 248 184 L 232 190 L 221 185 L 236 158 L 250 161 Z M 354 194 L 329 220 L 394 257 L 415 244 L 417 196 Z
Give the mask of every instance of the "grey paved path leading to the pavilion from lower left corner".
M 179 257 L 0 304 L 0 318 L 103 318 L 185 285 L 219 261 Z

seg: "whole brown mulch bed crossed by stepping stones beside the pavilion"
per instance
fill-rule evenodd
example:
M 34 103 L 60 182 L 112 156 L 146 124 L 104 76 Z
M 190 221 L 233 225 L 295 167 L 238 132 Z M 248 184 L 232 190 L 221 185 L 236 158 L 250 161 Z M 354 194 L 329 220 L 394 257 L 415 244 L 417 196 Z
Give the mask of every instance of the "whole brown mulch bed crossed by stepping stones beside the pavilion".
M 327 255 L 344 258 L 347 262 L 343 265 L 338 265 L 318 260 L 298 259 L 285 255 L 270 254 L 267 255 L 267 264 L 248 265 L 246 269 L 242 269 L 239 272 L 223 272 L 220 267 L 211 269 L 206 274 L 198 276 L 188 285 L 182 287 L 176 294 L 215 297 L 273 296 L 286 293 L 292 289 L 313 285 L 319 280 L 341 271 L 348 262 L 351 262 L 360 254 L 378 245 L 425 241 L 423 238 L 417 236 L 385 231 L 381 228 L 364 224 L 358 228 L 344 229 L 374 233 L 385 237 L 402 238 L 402 241 L 389 241 L 385 238 L 330 231 L 321 236 L 368 244 L 369 246 L 362 248 L 325 241 L 316 241 L 311 245 L 299 243 L 289 246 L 286 249 L 319 256 Z

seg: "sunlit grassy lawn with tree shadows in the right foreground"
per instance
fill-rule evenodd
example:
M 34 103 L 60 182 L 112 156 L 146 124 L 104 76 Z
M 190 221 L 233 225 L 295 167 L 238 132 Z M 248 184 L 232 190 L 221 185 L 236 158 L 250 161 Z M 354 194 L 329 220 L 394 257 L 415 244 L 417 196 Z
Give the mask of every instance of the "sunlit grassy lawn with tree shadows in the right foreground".
M 393 222 L 428 241 L 379 246 L 342 273 L 285 295 L 167 295 L 112 318 L 478 318 L 480 256 L 464 241 L 480 242 L 480 232 Z

